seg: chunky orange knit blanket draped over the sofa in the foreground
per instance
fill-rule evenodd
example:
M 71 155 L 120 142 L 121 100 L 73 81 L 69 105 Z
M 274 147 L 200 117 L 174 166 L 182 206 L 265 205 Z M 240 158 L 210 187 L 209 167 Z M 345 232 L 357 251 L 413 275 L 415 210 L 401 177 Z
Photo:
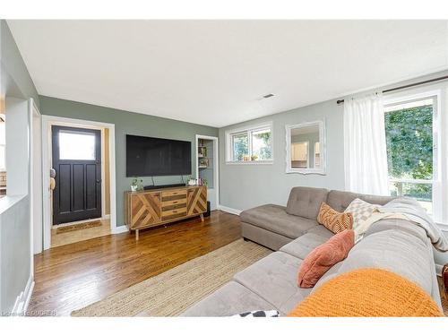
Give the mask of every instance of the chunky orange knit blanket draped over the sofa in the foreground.
M 325 282 L 289 316 L 444 316 L 416 284 L 392 271 L 349 271 Z

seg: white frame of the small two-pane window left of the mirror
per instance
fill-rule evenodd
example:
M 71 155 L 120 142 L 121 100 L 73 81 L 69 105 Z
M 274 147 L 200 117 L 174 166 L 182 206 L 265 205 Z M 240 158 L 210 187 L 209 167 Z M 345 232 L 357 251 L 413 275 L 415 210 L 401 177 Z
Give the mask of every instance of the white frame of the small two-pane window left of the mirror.
M 247 152 L 249 157 L 253 155 L 252 149 L 252 134 L 254 132 L 260 132 L 268 130 L 271 132 L 271 159 L 259 159 L 259 160 L 235 160 L 233 152 L 233 137 L 239 134 L 247 134 Z M 272 122 L 260 124 L 260 125 L 248 125 L 246 127 L 240 127 L 226 131 L 226 164 L 229 165 L 266 165 L 272 164 L 274 161 L 274 131 Z

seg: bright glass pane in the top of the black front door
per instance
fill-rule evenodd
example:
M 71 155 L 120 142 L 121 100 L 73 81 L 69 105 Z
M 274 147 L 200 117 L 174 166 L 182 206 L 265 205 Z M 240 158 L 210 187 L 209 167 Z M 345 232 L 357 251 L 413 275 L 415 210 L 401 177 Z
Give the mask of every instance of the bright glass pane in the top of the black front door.
M 59 159 L 95 159 L 95 135 L 59 132 Z

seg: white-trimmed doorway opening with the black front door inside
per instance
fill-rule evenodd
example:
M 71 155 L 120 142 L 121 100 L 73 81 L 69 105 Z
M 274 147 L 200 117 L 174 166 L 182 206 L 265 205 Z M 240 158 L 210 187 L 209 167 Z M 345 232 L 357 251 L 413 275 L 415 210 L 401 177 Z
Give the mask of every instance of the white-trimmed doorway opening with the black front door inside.
M 113 125 L 46 119 L 44 249 L 115 233 Z

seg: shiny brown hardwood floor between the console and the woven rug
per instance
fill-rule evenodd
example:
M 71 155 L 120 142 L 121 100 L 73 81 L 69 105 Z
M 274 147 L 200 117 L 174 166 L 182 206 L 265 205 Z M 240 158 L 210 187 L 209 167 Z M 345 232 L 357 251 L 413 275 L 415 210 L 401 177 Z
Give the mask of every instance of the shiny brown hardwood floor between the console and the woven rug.
M 29 312 L 68 315 L 119 290 L 241 237 L 239 217 L 212 211 L 204 222 L 97 237 L 50 248 L 35 256 L 35 287 Z

